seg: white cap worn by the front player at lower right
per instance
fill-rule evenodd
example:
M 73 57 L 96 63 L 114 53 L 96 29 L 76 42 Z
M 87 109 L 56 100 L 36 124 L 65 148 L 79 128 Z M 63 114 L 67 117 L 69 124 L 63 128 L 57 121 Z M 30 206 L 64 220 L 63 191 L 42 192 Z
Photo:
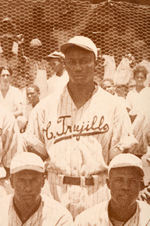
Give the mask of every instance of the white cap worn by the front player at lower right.
M 108 166 L 108 174 L 110 173 L 111 169 L 122 167 L 136 167 L 141 170 L 142 175 L 144 176 L 142 161 L 133 154 L 124 153 L 115 156 Z

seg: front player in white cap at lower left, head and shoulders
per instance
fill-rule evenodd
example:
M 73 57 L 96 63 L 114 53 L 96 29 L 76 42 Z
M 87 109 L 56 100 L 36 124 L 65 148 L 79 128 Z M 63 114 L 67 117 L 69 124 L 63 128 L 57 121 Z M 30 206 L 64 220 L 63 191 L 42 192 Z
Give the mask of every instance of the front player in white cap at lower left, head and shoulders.
M 72 216 L 63 206 L 41 196 L 44 162 L 33 153 L 17 153 L 10 166 L 14 195 L 0 201 L 0 225 L 71 226 Z

